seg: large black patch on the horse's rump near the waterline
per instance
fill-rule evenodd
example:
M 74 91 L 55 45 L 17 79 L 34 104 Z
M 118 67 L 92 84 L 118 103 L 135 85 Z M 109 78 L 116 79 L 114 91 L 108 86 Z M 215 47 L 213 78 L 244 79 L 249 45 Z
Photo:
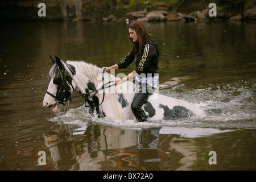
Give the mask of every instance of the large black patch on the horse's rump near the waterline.
M 179 118 L 186 118 L 191 113 L 190 110 L 186 109 L 183 106 L 174 106 L 174 108 L 169 109 L 168 106 L 160 104 L 159 107 L 164 110 L 164 119 L 174 120 Z

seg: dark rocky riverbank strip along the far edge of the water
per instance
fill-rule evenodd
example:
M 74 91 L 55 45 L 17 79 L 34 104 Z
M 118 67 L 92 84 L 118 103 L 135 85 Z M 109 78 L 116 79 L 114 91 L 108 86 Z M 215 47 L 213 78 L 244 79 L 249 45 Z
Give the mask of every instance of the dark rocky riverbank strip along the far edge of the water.
M 46 0 L 46 16 L 39 16 L 38 1 L 0 2 L 1 20 L 85 20 L 91 22 L 208 22 L 256 20 L 256 2 L 244 1 L 88 1 Z M 215 7 L 210 6 L 214 3 Z M 212 14 L 215 13 L 213 16 Z

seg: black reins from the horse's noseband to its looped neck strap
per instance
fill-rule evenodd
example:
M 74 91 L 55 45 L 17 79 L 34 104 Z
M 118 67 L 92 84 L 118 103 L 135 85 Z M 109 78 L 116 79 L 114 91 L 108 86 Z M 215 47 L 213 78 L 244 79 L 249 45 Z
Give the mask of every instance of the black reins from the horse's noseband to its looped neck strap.
M 104 99 L 105 99 L 105 89 L 106 89 L 106 88 L 110 88 L 111 86 L 114 86 L 114 84 L 113 84 L 113 85 L 108 85 L 108 84 L 110 84 L 111 82 L 114 82 L 114 81 L 109 81 L 109 82 L 107 82 L 106 84 L 104 83 L 104 80 L 105 80 L 105 78 L 104 78 L 105 70 L 106 70 L 106 68 L 104 68 L 103 71 L 102 71 L 102 86 L 101 86 L 101 88 L 99 88 L 99 89 L 97 89 L 97 90 L 93 90 L 92 92 L 88 92 L 88 93 L 84 93 L 84 94 L 81 94 L 81 95 L 80 95 L 80 96 L 82 96 L 82 98 L 85 99 L 85 107 L 97 107 L 97 106 L 100 106 L 100 105 L 103 103 Z M 68 81 L 67 81 L 67 82 L 68 82 Z M 71 85 L 72 88 L 73 88 L 73 90 L 75 90 L 74 87 L 73 87 L 73 85 L 72 85 L 72 82 L 71 82 L 71 83 L 68 82 L 68 85 Z M 107 86 L 107 85 L 108 85 L 108 86 Z M 96 96 L 96 94 L 97 94 L 98 92 L 100 92 L 100 90 L 103 90 L 103 97 L 102 97 L 101 103 L 100 103 L 100 104 L 97 104 L 97 105 L 89 105 L 89 106 L 86 106 L 86 99 L 92 98 L 92 97 Z M 65 105 L 64 102 L 67 102 L 67 101 L 71 101 L 71 102 L 72 102 L 72 99 L 73 99 L 73 98 L 80 97 L 80 96 L 76 96 L 76 97 L 72 97 L 72 98 L 70 97 L 70 98 L 68 98 L 67 100 L 65 100 L 65 98 L 64 98 L 64 101 L 59 101 L 59 100 L 57 100 L 57 97 L 56 97 L 55 95 L 53 95 L 52 93 L 50 93 L 50 92 L 48 92 L 48 91 L 47 91 L 46 93 L 49 94 L 50 96 L 52 96 L 53 98 L 55 98 L 55 101 L 57 102 L 56 104 L 63 104 L 63 105 Z M 94 93 L 94 94 L 93 94 L 92 96 L 86 97 L 86 96 L 88 96 L 88 95 L 91 94 L 91 93 Z

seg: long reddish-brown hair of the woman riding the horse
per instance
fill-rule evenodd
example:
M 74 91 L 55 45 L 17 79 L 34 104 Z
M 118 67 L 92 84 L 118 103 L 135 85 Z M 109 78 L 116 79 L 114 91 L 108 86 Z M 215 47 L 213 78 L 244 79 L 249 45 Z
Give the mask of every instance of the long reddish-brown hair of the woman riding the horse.
M 146 42 L 147 39 L 152 38 L 152 35 L 147 33 L 143 23 L 139 20 L 134 20 L 133 22 L 131 22 L 128 27 L 128 30 L 129 28 L 134 30 L 139 36 L 138 42 L 133 42 L 133 39 L 129 37 L 131 40 L 131 47 L 133 48 L 135 55 L 137 55 L 138 53 L 141 53 L 144 43 Z

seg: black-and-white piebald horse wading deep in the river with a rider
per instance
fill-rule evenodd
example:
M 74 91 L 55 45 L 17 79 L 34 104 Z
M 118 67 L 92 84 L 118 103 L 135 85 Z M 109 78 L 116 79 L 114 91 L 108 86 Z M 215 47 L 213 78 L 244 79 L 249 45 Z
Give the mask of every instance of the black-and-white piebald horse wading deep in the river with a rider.
M 98 118 L 131 119 L 136 121 L 131 111 L 131 102 L 138 86 L 133 81 L 126 81 L 115 86 L 114 80 L 120 79 L 105 72 L 104 68 L 85 61 L 62 61 L 50 56 L 53 63 L 49 71 L 49 85 L 43 99 L 43 107 L 53 113 L 60 112 L 60 106 L 71 101 L 71 94 L 77 90 L 89 107 L 89 113 Z M 142 109 L 149 121 L 161 119 L 187 118 L 191 115 L 205 117 L 205 112 L 198 106 L 176 98 L 164 96 L 158 92 L 150 95 Z

